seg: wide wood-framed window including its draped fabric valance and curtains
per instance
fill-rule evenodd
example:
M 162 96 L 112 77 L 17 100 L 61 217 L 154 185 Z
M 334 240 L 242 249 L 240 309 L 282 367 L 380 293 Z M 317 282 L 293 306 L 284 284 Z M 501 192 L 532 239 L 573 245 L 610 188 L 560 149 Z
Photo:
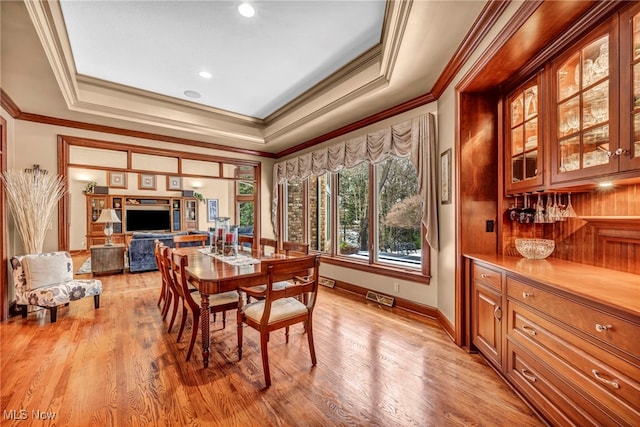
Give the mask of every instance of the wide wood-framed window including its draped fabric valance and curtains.
M 427 113 L 277 162 L 274 229 L 327 263 L 428 283 L 439 248 L 436 156 Z

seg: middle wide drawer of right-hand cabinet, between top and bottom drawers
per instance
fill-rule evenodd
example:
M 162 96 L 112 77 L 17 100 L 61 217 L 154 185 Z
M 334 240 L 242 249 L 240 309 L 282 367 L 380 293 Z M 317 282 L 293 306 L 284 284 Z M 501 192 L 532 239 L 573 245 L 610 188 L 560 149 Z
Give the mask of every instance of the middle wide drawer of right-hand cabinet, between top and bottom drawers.
M 510 339 L 529 349 L 536 359 L 557 367 L 566 381 L 573 384 L 586 400 L 591 400 L 594 406 L 618 423 L 633 425 L 634 420 L 640 419 L 640 384 L 634 380 L 640 378 L 637 366 L 611 358 L 616 368 L 622 368 L 618 370 L 597 358 L 598 354 L 603 353 L 601 350 L 584 341 L 578 342 L 578 347 L 563 339 L 570 338 L 572 334 L 525 307 L 509 301 L 508 310 Z M 603 355 L 606 356 L 606 353 Z M 599 416 L 596 411 L 594 408 L 591 412 Z

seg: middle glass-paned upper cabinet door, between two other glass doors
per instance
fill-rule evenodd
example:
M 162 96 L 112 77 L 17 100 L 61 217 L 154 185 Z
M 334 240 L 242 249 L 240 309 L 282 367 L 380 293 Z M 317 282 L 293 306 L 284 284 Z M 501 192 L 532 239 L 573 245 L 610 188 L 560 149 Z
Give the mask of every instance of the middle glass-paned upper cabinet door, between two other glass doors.
M 612 135 L 617 124 L 611 120 L 609 42 L 608 34 L 597 36 L 554 68 L 556 180 L 617 169 L 610 164 L 618 142 Z

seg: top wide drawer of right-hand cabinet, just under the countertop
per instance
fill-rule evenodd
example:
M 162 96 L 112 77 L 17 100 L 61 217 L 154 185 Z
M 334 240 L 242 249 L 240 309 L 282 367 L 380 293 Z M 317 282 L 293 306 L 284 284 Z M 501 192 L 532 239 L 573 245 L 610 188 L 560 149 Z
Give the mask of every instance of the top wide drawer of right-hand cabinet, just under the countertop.
M 634 358 L 640 354 L 638 325 L 511 277 L 507 277 L 507 295 L 510 299 L 534 307 L 597 340 L 613 345 Z

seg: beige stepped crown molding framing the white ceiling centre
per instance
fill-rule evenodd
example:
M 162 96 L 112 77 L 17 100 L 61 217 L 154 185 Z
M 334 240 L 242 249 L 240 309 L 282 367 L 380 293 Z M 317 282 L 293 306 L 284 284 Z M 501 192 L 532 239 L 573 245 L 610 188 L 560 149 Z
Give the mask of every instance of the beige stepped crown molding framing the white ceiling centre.
M 265 120 L 78 75 L 60 4 L 36 0 L 26 5 L 70 111 L 220 138 L 231 144 L 266 146 L 358 96 L 388 85 L 412 2 L 388 2 L 378 46 Z

